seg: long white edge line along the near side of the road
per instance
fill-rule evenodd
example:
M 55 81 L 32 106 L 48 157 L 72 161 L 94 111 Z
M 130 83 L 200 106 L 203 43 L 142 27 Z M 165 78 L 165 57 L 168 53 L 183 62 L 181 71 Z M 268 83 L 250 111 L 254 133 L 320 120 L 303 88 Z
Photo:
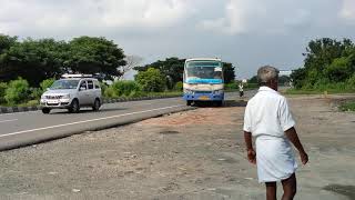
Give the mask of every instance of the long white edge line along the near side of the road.
M 34 131 L 47 130 L 47 129 L 54 129 L 54 128 L 60 128 L 60 127 L 68 127 L 68 126 L 72 126 L 72 124 L 80 124 L 80 123 L 88 123 L 88 122 L 92 122 L 92 121 L 106 120 L 106 119 L 112 119 L 112 118 L 121 118 L 121 117 L 124 117 L 124 116 L 133 116 L 133 114 L 138 114 L 138 113 L 145 113 L 145 112 L 152 112 L 152 111 L 158 111 L 158 110 L 166 110 L 166 109 L 176 108 L 176 107 L 183 107 L 183 104 L 176 104 L 176 106 L 172 106 L 172 107 L 164 107 L 164 108 L 159 108 L 159 109 L 143 110 L 143 111 L 138 111 L 138 112 L 130 112 L 130 113 L 124 113 L 124 114 L 110 116 L 110 117 L 105 117 L 105 118 L 98 118 L 98 119 L 91 119 L 91 120 L 84 120 L 84 121 L 77 121 L 77 122 L 72 122 L 72 123 L 63 123 L 63 124 L 58 124 L 58 126 L 43 127 L 43 128 L 38 128 L 38 129 L 11 132 L 11 133 L 1 134 L 0 138 L 4 138 L 4 137 L 9 137 L 9 136 L 16 136 L 16 134 L 23 134 L 23 133 L 27 133 L 27 132 L 34 132 Z

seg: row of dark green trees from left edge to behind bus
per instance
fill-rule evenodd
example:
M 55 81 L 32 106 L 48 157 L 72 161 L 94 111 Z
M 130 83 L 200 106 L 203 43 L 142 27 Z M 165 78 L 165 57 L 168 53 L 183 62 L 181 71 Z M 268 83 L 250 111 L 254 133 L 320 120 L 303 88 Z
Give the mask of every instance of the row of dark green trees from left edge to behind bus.
M 185 59 L 166 58 L 139 66 L 142 58 L 125 56 L 124 50 L 104 37 L 79 37 L 69 41 L 52 38 L 19 40 L 18 37 L 0 34 L 0 81 L 9 82 L 19 77 L 31 87 L 63 73 L 97 74 L 106 80 L 123 77 L 131 69 L 146 71 L 159 69 L 166 77 L 168 88 L 182 81 Z M 224 62 L 225 81 L 235 78 L 235 67 Z

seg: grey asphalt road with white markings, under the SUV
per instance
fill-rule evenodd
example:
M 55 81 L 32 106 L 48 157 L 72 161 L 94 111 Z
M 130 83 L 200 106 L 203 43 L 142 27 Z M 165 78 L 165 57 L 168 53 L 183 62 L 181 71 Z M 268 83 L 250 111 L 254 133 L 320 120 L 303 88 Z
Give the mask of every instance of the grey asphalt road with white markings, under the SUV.
M 245 98 L 253 93 L 255 91 L 245 92 Z M 237 94 L 227 93 L 226 100 L 239 99 Z M 103 104 L 99 112 L 82 109 L 80 113 L 52 110 L 50 114 L 43 114 L 41 111 L 0 114 L 0 150 L 128 124 L 189 109 L 193 108 L 186 107 L 182 98 L 169 98 Z

